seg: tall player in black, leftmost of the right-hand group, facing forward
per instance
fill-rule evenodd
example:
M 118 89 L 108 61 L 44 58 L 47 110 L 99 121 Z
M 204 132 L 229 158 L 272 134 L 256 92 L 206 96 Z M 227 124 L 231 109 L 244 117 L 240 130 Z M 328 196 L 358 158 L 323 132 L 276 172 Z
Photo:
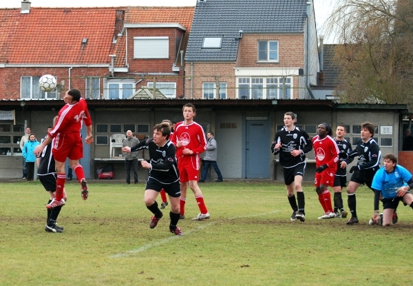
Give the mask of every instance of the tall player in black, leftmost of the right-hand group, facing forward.
M 313 150 L 313 143 L 304 131 L 294 125 L 295 114 L 286 112 L 284 114 L 284 127 L 275 133 L 271 152 L 279 154 L 279 163 L 284 170 L 284 183 L 287 188 L 288 202 L 293 209 L 291 221 L 297 218 L 304 222 L 306 219 L 304 206 L 305 198 L 301 183 L 306 168 L 306 153 Z M 294 190 L 297 192 L 295 201 Z M 298 204 L 297 204 L 298 203 Z

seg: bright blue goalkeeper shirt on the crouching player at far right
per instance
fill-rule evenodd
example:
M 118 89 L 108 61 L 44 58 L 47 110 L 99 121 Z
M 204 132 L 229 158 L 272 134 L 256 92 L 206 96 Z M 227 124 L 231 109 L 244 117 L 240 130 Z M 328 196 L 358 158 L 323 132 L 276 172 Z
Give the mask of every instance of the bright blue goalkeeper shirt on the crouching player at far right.
M 372 189 L 380 190 L 383 198 L 395 198 L 396 190 L 412 178 L 412 174 L 402 167 L 395 165 L 392 173 L 385 172 L 384 166 L 374 174 Z

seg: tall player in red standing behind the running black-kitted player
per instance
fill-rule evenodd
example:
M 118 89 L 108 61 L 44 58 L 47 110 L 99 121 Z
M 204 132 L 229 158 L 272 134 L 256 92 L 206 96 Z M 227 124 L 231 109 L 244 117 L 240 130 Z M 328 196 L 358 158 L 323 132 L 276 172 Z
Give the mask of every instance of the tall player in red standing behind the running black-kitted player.
M 204 203 L 204 197 L 198 186 L 200 173 L 200 154 L 207 150 L 204 130 L 201 125 L 193 121 L 196 115 L 195 106 L 187 103 L 182 108 L 184 121 L 178 122 L 172 136 L 172 143 L 176 145 L 176 157 L 180 173 L 180 218 L 184 218 L 187 187 L 191 188 L 200 208 L 198 216 L 193 221 L 202 221 L 209 218 L 209 212 Z

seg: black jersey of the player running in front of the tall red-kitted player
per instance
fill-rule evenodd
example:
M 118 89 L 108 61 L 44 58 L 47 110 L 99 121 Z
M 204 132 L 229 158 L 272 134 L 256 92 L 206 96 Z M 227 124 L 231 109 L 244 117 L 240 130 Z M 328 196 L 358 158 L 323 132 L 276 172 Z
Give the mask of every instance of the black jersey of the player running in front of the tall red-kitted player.
M 149 178 L 153 178 L 160 183 L 169 184 L 179 181 L 178 165 L 176 163 L 176 147 L 171 141 L 159 147 L 153 143 L 153 139 L 142 140 L 138 145 L 131 147 L 131 152 L 142 149 L 149 150 L 149 163 L 152 169 L 149 170 Z

